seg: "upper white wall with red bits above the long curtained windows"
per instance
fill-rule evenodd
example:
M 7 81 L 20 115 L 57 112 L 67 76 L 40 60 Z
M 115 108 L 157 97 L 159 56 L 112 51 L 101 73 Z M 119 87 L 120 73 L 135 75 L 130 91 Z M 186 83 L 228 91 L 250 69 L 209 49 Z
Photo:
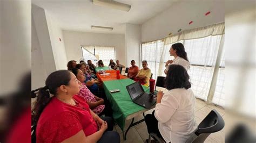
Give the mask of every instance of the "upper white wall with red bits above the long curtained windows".
M 189 30 L 224 22 L 224 1 L 178 2 L 142 24 L 142 41 L 152 41 Z M 207 11 L 210 15 L 205 16 Z M 191 25 L 190 21 L 193 21 Z

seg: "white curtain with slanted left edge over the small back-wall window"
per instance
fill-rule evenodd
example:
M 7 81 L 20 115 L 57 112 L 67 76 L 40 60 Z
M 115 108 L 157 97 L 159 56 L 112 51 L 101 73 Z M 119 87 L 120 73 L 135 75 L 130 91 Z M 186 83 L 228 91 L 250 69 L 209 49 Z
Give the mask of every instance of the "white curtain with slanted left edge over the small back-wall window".
M 116 60 L 116 52 L 114 47 L 104 47 L 104 46 L 83 46 L 87 51 L 90 53 L 94 53 L 98 59 L 102 60 L 105 66 L 109 66 L 109 61 L 112 59 L 113 61 Z

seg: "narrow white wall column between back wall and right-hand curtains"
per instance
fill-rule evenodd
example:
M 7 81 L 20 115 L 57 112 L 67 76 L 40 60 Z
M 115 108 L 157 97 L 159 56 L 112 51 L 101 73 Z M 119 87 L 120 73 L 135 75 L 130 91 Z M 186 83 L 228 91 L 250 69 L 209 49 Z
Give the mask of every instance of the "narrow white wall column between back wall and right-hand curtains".
M 125 53 L 126 66 L 131 66 L 131 60 L 135 60 L 139 66 L 140 55 L 140 25 L 125 24 Z

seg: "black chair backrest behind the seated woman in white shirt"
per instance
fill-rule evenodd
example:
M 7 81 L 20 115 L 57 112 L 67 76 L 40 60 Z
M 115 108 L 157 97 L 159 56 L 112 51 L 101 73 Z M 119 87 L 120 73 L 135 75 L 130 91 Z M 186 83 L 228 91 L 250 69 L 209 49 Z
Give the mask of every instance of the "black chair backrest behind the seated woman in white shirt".
M 211 133 L 222 130 L 224 126 L 225 122 L 223 118 L 213 109 L 198 125 L 198 129 L 194 132 L 194 135 L 192 135 L 195 138 L 190 138 L 187 142 L 204 142 Z

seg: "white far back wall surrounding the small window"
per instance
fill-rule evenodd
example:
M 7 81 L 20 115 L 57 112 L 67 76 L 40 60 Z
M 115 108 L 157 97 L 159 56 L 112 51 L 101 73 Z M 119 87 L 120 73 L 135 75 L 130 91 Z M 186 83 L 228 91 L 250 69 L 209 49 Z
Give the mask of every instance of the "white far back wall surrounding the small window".
M 102 34 L 76 31 L 63 31 L 68 61 L 82 59 L 83 46 L 112 46 L 116 49 L 116 59 L 126 63 L 123 34 Z

